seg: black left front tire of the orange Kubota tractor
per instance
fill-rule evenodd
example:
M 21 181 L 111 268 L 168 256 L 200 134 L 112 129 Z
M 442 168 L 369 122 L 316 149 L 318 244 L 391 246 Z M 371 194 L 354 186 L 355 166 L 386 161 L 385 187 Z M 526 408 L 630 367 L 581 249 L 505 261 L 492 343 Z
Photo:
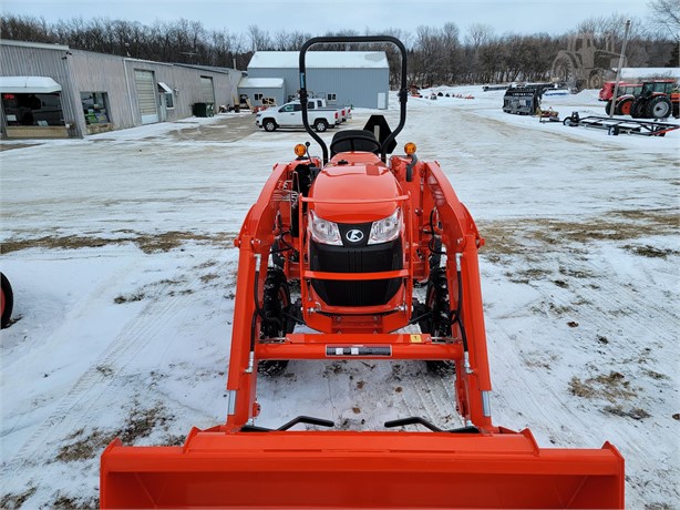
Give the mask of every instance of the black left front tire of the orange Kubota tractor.
M 286 273 L 278 267 L 270 267 L 265 279 L 265 297 L 262 300 L 265 318 L 260 326 L 260 339 L 281 338 L 292 333 L 295 322 L 290 314 L 290 289 Z M 286 370 L 287 360 L 265 359 L 258 363 L 257 371 L 262 375 L 278 376 Z

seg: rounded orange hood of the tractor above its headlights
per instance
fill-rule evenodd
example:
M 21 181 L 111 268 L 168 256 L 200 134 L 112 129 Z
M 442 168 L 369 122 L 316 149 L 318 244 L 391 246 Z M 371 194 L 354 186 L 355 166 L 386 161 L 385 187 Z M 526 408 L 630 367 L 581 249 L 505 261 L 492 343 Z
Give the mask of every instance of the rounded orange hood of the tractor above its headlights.
M 368 223 L 390 216 L 402 193 L 380 157 L 356 152 L 334 156 L 316 178 L 309 194 L 317 215 L 323 220 Z

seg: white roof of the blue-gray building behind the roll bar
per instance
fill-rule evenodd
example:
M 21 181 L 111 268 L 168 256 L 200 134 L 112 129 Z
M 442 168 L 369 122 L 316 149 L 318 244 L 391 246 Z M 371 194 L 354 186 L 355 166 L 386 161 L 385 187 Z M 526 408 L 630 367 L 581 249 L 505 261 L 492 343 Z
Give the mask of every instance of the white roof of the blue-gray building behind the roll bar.
M 249 69 L 298 69 L 299 51 L 258 51 L 250 59 Z M 309 69 L 388 69 L 384 51 L 310 51 L 305 57 Z

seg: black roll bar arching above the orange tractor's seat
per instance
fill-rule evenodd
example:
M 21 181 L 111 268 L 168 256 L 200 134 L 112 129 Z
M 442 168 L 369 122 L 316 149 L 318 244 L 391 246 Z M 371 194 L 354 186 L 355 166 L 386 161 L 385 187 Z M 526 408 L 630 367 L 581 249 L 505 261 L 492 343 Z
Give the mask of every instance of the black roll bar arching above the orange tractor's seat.
M 400 115 L 399 115 L 399 125 L 396 129 L 388 136 L 380 149 L 382 161 L 387 160 L 387 151 L 390 146 L 390 143 L 396 137 L 396 135 L 401 132 L 404 124 L 406 123 L 406 100 L 409 98 L 408 89 L 406 89 L 406 49 L 403 43 L 392 37 L 392 35 L 344 35 L 344 37 L 320 37 L 309 39 L 302 48 L 300 49 L 300 104 L 302 106 L 302 124 L 305 129 L 309 133 L 309 135 L 317 141 L 319 145 L 321 145 L 321 151 L 323 152 L 323 164 L 328 163 L 328 146 L 326 142 L 313 132 L 311 126 L 309 125 L 309 118 L 307 114 L 307 103 L 308 103 L 308 94 L 307 94 L 307 67 L 305 64 L 305 57 L 307 55 L 307 50 L 315 44 L 320 43 L 342 43 L 342 42 L 359 42 L 359 43 L 369 43 L 369 42 L 391 42 L 396 45 L 401 51 L 401 86 L 399 89 L 399 103 L 400 103 Z

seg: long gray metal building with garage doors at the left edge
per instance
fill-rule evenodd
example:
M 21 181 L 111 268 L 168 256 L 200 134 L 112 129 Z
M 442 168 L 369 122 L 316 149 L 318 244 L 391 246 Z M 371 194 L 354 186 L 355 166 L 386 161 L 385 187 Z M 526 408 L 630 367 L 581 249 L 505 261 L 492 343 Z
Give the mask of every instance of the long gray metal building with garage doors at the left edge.
M 234 105 L 239 71 L 0 40 L 2 137 L 84 136 Z

